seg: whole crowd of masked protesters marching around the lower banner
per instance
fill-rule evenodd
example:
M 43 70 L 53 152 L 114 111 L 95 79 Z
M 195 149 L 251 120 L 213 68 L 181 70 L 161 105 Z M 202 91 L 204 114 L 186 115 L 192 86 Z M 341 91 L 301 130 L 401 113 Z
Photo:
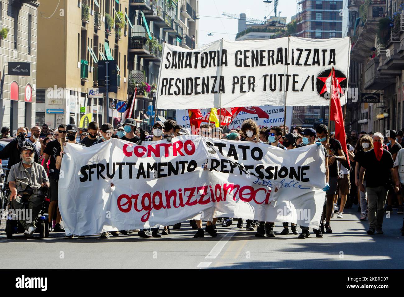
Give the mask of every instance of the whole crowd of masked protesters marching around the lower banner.
M 7 183 L 12 190 L 11 198 L 16 199 L 19 189 L 16 186 L 15 173 L 17 166 L 21 171 L 32 172 L 32 180 L 23 187 L 27 191 L 30 187 L 48 186 L 48 220 L 50 232 L 65 232 L 61 224 L 61 214 L 58 208 L 58 183 L 63 158 L 63 145 L 76 143 L 86 147 L 97 145 L 111 138 L 119 138 L 140 145 L 143 141 L 172 141 L 173 137 L 181 135 L 199 134 L 202 137 L 227 139 L 232 141 L 250 141 L 274 145 L 283 150 L 292 150 L 306 145 L 321 145 L 324 153 L 326 167 L 327 186 L 323 189 L 324 208 L 321 223 L 313 229 L 316 237 L 322 238 L 324 233 L 332 233 L 331 219 L 342 219 L 344 209 L 358 205 L 360 220 L 368 220 L 368 234 L 383 234 L 382 224 L 386 212 L 403 214 L 404 196 L 404 139 L 402 131 L 387 130 L 382 133 L 366 133 L 351 131 L 346 135 L 347 153 L 337 139 L 335 133 L 330 133 L 328 127 L 320 124 L 313 128 L 296 126 L 289 131 L 288 126 L 272 126 L 259 128 L 253 120 L 245 120 L 241 128 L 227 131 L 216 127 L 215 124 L 202 124 L 196 131 L 178 125 L 174 120 L 165 122 L 156 121 L 151 131 L 143 131 L 137 127 L 134 119 L 128 118 L 124 124 L 119 124 L 116 129 L 109 123 L 99 127 L 97 122 L 90 122 L 87 129 L 78 128 L 75 124 L 61 124 L 55 130 L 46 124 L 34 126 L 30 130 L 20 127 L 17 136 L 0 151 L 0 159 L 8 158 L 10 174 Z M 0 138 L 9 137 L 10 130 L 2 127 Z M 61 139 L 65 141 L 61 145 Z M 349 160 L 349 162 L 348 162 Z M 38 170 L 38 164 L 42 169 Z M 14 167 L 13 167 L 14 166 Z M 32 166 L 32 171 L 31 167 Z M 18 183 L 19 184 L 19 183 Z M 111 186 L 114 186 L 111 184 Z M 21 189 L 20 189 L 21 190 Z M 17 201 L 15 202 L 17 204 Z M 18 207 L 18 205 L 17 205 Z M 38 211 L 39 212 L 39 211 Z M 38 214 L 37 214 L 38 215 Z M 244 221 L 243 218 L 214 218 L 206 222 L 205 230 L 202 228 L 202 220 L 190 220 L 190 226 L 197 230 L 194 237 L 204 237 L 205 232 L 210 236 L 217 236 L 217 222 L 222 227 L 229 227 L 233 221 L 237 221 L 237 227 L 242 229 L 244 224 L 246 231 L 255 232 L 257 237 L 274 237 L 274 222 L 260 222 L 253 220 Z M 31 236 L 36 228 L 35 223 L 25 224 L 25 235 Z M 298 235 L 297 225 L 283 223 L 283 230 L 278 235 Z M 181 223 L 173 225 L 172 229 L 181 229 Z M 298 238 L 307 238 L 310 235 L 308 227 L 300 227 L 301 234 Z M 402 228 L 401 228 L 402 231 Z M 143 230 L 121 230 L 104 232 L 101 238 L 116 237 L 120 234 L 138 232 L 141 237 L 162 237 L 170 234 L 169 226 L 162 231 L 159 228 Z M 404 233 L 402 233 L 404 235 Z M 74 238 L 74 235 L 65 238 Z M 84 238 L 84 236 L 76 236 Z

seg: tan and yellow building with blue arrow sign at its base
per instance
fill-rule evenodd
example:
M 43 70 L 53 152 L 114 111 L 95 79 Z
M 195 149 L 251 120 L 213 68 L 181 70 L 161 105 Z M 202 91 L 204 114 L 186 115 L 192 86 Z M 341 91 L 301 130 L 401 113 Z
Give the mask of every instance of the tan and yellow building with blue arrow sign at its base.
M 128 1 L 41 0 L 38 19 L 38 122 L 78 124 L 84 114 L 118 124 L 114 108 L 128 94 Z M 89 97 L 98 87 L 97 63 L 115 60 L 117 92 Z M 103 96 L 103 97 L 102 97 Z

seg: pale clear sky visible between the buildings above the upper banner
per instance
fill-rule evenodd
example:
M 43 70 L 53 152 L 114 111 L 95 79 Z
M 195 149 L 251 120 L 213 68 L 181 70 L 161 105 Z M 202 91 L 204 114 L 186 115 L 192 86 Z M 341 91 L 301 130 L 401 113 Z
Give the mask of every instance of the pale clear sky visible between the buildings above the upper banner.
M 273 1 L 274 2 L 274 1 Z M 199 36 L 198 46 L 203 46 L 218 39 L 235 40 L 238 33 L 238 20 L 221 15 L 223 12 L 264 20 L 264 17 L 275 16 L 274 3 L 264 3 L 263 0 L 199 0 Z M 278 13 L 287 17 L 290 22 L 296 14 L 296 0 L 279 0 Z M 248 24 L 248 23 L 247 23 Z M 213 32 L 213 36 L 208 36 Z

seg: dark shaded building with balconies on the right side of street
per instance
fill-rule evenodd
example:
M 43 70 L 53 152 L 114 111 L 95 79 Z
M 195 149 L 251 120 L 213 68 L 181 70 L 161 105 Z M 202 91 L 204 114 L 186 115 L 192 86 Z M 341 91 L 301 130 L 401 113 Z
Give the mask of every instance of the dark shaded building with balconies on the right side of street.
M 351 64 L 346 123 L 366 132 L 404 127 L 404 1 L 349 3 Z M 368 100 L 368 98 L 373 98 Z

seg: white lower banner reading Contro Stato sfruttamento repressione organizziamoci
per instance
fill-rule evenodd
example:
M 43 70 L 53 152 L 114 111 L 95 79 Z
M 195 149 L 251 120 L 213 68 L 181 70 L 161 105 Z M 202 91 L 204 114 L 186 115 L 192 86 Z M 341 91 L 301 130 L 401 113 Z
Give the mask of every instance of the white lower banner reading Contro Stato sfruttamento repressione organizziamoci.
M 213 217 L 320 224 L 326 184 L 320 146 L 281 150 L 195 135 L 142 144 L 66 145 L 59 210 L 67 235 Z

